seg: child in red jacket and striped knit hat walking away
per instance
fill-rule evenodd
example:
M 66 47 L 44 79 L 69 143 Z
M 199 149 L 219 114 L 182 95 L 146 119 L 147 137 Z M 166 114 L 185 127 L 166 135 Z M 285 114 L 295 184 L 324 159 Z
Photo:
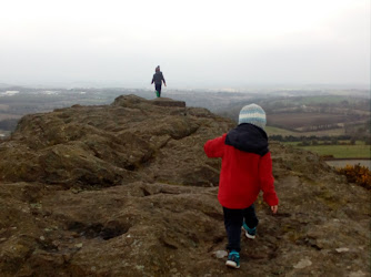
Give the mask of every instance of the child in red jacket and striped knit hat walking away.
M 257 104 L 242 107 L 239 125 L 220 137 L 208 141 L 208 157 L 221 157 L 218 199 L 223 206 L 229 250 L 227 266 L 240 267 L 241 226 L 248 238 L 254 238 L 258 218 L 253 203 L 259 192 L 273 214 L 278 197 L 272 175 L 272 158 L 264 132 L 265 112 Z

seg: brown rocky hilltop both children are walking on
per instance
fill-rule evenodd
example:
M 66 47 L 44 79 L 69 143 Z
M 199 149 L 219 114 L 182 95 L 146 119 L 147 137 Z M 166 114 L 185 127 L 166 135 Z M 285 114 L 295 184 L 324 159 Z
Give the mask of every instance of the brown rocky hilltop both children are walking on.
M 0 142 L 1 276 L 367 276 L 370 197 L 313 153 L 271 144 L 280 198 L 225 268 L 220 161 L 233 122 L 170 99 L 22 117 Z

